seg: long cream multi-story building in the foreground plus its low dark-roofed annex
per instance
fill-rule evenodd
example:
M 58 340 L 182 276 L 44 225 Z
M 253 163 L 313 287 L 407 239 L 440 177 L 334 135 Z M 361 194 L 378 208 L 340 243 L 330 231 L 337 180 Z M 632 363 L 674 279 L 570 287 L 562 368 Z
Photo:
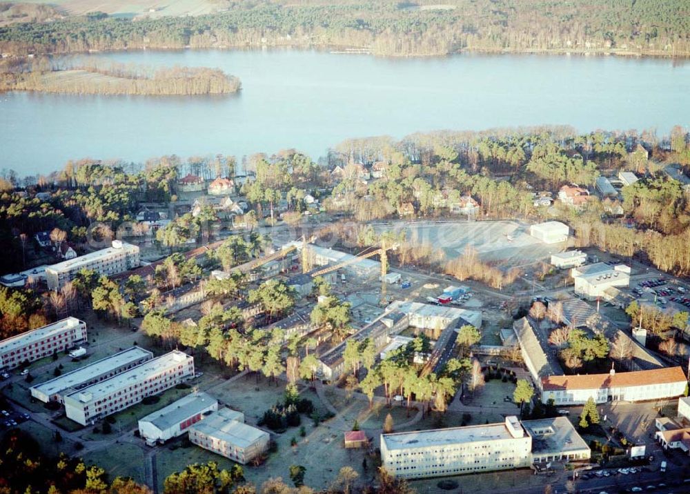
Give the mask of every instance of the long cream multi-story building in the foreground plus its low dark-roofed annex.
M 407 479 L 589 460 L 591 450 L 565 417 L 381 435 L 381 459 Z

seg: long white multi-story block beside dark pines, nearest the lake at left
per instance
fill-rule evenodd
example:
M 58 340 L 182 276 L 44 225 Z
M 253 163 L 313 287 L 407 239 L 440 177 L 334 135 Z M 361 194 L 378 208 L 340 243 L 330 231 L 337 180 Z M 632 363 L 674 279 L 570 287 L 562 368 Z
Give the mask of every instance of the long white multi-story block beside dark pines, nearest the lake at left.
M 113 240 L 108 248 L 48 266 L 46 280 L 50 290 L 59 290 L 82 269 L 92 269 L 101 275 L 117 275 L 138 266 L 139 247 Z

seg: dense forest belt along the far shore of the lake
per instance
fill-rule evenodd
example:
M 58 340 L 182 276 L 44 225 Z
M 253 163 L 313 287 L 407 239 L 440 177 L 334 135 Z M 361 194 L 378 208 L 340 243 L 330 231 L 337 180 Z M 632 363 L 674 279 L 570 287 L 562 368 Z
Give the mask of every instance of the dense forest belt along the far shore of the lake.
M 0 28 L 0 52 L 126 48 L 360 48 L 376 55 L 591 52 L 690 55 L 689 0 L 256 1 L 199 17 L 102 12 Z

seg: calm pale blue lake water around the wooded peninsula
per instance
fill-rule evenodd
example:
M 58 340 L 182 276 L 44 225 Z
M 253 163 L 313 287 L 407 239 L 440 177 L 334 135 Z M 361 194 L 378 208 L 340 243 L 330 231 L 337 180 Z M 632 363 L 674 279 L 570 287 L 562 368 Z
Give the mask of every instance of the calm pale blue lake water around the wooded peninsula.
M 244 88 L 224 97 L 0 95 L 0 168 L 30 175 L 81 157 L 242 157 L 290 147 L 316 158 L 348 137 L 539 124 L 662 133 L 690 119 L 690 63 L 664 59 L 280 50 L 99 56 L 217 67 Z

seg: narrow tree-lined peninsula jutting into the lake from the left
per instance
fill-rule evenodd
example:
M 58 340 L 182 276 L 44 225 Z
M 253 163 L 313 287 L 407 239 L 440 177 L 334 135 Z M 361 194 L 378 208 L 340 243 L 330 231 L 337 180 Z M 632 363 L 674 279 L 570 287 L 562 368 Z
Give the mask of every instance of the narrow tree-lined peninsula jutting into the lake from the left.
M 153 69 L 97 60 L 56 66 L 48 59 L 0 63 L 1 91 L 57 92 L 70 95 L 224 95 L 242 87 L 237 77 L 219 69 Z

